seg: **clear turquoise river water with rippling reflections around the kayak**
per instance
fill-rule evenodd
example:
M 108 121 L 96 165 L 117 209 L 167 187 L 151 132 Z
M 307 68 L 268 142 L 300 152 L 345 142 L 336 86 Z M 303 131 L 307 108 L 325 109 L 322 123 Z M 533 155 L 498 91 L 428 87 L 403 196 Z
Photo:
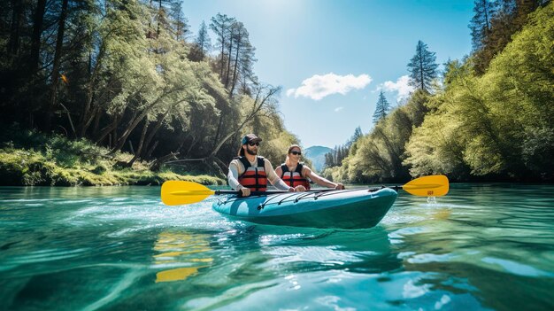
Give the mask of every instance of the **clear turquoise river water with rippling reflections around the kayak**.
M 373 229 L 229 222 L 156 187 L 0 187 L 0 309 L 552 310 L 554 186 L 400 193 Z

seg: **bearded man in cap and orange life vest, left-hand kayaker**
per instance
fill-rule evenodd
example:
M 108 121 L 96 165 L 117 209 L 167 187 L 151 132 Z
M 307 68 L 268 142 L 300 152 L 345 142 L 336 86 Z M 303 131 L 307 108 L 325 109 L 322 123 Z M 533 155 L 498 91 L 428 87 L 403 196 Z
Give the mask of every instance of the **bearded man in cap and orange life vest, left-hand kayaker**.
M 258 156 L 261 138 L 254 134 L 242 137 L 238 157 L 229 164 L 227 182 L 235 190 L 241 190 L 242 197 L 250 196 L 250 191 L 267 190 L 267 181 L 279 190 L 295 191 L 293 187 L 283 183 L 268 159 Z

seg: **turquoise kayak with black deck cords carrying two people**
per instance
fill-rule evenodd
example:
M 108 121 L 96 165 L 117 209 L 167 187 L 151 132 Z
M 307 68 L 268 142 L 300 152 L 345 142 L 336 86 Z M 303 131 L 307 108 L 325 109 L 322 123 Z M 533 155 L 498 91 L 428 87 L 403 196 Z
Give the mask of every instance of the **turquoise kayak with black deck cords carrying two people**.
M 365 229 L 381 222 L 396 196 L 390 188 L 231 195 L 217 198 L 212 208 L 231 220 L 259 224 Z

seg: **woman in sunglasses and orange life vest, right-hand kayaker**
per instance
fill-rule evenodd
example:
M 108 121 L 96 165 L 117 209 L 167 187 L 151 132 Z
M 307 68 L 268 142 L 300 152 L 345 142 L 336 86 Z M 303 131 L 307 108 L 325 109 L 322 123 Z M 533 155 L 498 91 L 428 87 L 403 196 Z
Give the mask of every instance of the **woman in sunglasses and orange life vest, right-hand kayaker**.
M 290 187 L 293 187 L 296 191 L 310 190 L 310 182 L 308 181 L 308 178 L 323 187 L 335 188 L 336 190 L 344 189 L 344 185 L 342 185 L 342 183 L 330 182 L 327 179 L 315 174 L 310 167 L 300 163 L 300 156 L 302 156 L 300 146 L 293 144 L 289 147 L 285 163 L 275 168 L 275 173 L 281 177 L 283 182 L 287 183 Z

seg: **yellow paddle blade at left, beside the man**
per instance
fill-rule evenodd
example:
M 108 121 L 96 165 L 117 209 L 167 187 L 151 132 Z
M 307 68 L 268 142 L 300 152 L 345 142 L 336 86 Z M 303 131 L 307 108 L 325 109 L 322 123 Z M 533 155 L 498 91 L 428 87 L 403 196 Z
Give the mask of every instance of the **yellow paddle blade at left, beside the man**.
M 181 206 L 204 200 L 214 194 L 214 190 L 193 182 L 167 181 L 162 184 L 162 202 L 166 206 Z

